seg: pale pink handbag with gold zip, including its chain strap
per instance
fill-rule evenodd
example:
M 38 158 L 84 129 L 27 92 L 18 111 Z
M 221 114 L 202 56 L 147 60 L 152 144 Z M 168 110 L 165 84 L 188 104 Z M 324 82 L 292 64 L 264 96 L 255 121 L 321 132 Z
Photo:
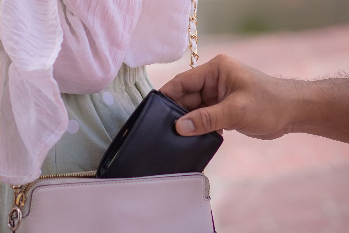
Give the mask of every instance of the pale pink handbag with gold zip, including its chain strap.
M 189 49 L 196 66 L 196 3 Z M 214 233 L 209 181 L 203 173 L 94 179 L 95 171 L 41 176 L 12 186 L 8 226 L 16 233 Z

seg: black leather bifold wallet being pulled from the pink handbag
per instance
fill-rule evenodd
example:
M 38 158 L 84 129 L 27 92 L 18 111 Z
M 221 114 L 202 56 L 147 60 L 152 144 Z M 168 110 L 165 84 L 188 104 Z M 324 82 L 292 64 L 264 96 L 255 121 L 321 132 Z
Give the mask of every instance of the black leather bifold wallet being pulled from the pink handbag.
M 157 90 L 135 109 L 99 163 L 97 178 L 202 172 L 223 142 L 211 132 L 180 136 L 178 118 L 188 111 Z

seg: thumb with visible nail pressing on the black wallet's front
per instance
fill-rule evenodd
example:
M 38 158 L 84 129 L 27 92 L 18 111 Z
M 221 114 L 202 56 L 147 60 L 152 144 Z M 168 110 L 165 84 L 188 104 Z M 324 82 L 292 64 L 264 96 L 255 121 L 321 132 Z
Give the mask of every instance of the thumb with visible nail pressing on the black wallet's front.
M 196 109 L 179 118 L 176 122 L 177 132 L 182 136 L 194 136 L 230 128 L 228 108 L 223 102 Z

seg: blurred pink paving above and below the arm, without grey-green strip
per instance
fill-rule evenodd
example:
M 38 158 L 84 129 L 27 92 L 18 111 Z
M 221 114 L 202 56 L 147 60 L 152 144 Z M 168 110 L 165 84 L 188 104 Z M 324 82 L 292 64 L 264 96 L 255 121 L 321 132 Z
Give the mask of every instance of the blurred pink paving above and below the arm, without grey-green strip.
M 270 74 L 314 79 L 349 72 L 349 25 L 258 36 L 199 35 L 199 64 L 218 53 Z M 189 54 L 148 66 L 155 88 Z M 348 117 L 349 119 L 349 117 Z M 262 141 L 224 132 L 205 174 L 218 233 L 349 232 L 349 144 L 309 134 Z

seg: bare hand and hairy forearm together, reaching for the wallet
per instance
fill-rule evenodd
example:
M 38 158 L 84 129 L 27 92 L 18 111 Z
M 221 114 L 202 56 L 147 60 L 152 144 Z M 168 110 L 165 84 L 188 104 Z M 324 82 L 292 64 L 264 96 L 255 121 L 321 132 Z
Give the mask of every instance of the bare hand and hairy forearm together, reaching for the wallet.
M 225 54 L 178 74 L 161 89 L 190 110 L 176 123 L 183 136 L 236 130 L 271 140 L 309 133 L 349 143 L 349 77 L 276 78 Z

